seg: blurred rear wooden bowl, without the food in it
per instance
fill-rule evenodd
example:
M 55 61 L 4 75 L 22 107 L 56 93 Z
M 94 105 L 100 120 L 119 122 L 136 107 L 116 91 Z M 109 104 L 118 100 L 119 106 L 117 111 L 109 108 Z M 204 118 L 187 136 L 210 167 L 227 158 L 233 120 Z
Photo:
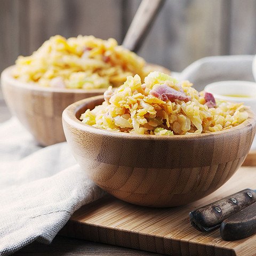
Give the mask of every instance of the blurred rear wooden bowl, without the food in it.
M 12 77 L 14 66 L 6 68 L 1 84 L 7 106 L 42 146 L 65 141 L 62 111 L 78 100 L 101 95 L 106 89 L 58 89 L 23 83 Z M 164 67 L 148 64 L 148 69 L 170 74 Z

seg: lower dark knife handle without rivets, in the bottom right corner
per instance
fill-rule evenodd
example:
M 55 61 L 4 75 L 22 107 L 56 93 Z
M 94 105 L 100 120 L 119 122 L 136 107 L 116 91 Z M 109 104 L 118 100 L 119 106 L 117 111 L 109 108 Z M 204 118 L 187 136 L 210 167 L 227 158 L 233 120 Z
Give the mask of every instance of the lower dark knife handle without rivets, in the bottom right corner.
M 249 237 L 256 233 L 256 203 L 230 216 L 221 223 L 220 235 L 226 241 Z

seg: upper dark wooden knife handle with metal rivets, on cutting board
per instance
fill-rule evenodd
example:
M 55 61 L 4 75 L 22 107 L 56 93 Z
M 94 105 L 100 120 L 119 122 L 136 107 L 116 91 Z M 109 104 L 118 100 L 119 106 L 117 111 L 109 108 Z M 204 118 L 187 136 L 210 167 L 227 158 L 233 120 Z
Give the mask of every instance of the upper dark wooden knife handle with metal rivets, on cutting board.
M 219 227 L 223 220 L 254 202 L 256 202 L 255 191 L 244 189 L 190 212 L 191 224 L 199 231 L 211 231 Z

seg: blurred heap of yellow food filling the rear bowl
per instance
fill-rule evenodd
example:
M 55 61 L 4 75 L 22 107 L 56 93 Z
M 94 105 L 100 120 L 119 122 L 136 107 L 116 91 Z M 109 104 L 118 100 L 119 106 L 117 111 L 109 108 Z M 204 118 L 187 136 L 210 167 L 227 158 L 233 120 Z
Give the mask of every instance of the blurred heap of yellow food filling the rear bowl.
M 123 84 L 127 76 L 147 75 L 145 61 L 113 38 L 53 36 L 31 56 L 20 56 L 13 76 L 41 86 L 99 89 Z

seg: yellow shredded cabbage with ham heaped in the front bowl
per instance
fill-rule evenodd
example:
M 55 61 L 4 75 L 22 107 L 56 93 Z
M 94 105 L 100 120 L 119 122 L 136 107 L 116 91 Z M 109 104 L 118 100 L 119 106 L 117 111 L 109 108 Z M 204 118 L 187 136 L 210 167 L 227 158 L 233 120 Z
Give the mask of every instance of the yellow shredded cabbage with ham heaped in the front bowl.
M 129 76 L 122 86 L 110 86 L 102 105 L 87 109 L 82 122 L 117 132 L 183 135 L 226 130 L 248 117 L 243 103 L 215 100 L 188 81 L 158 71 L 141 80 Z

